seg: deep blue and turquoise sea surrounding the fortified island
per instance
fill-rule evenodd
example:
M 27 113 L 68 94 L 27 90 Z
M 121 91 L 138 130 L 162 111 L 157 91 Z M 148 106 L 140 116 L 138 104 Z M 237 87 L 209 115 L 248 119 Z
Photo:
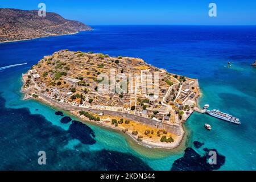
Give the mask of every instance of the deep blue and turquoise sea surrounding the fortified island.
M 0 44 L 1 170 L 255 170 L 255 26 L 93 26 L 75 35 Z M 23 101 L 22 73 L 60 49 L 141 57 L 168 72 L 198 78 L 199 104 L 241 120 L 234 125 L 193 113 L 184 142 L 175 150 L 152 150 L 116 131 L 77 122 L 68 113 Z M 232 68 L 227 67 L 231 61 Z M 14 67 L 8 67 L 10 65 Z M 61 123 L 69 116 L 73 122 Z M 209 123 L 212 130 L 204 129 Z M 200 143 L 199 143 L 200 142 Z M 201 144 L 200 145 L 198 145 Z M 195 145 L 196 144 L 196 145 Z M 45 151 L 47 164 L 38 164 Z M 209 166 L 208 151 L 217 151 Z

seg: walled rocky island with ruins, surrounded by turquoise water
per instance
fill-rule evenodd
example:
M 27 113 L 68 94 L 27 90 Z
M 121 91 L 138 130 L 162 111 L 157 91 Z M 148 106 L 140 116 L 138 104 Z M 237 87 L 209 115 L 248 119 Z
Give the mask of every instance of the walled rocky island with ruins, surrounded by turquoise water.
M 135 57 L 61 50 L 22 75 L 24 100 L 69 111 L 82 122 L 118 130 L 139 144 L 175 148 L 183 123 L 199 110 L 197 79 Z

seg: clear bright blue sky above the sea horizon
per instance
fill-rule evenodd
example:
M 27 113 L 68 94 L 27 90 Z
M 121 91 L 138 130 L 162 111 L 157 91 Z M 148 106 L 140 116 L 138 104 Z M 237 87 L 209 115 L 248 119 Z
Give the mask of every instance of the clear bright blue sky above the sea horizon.
M 38 9 L 46 3 L 47 11 L 64 18 L 96 24 L 254 24 L 255 0 L 11 0 L 0 7 Z M 208 16 L 208 5 L 217 5 L 217 17 Z

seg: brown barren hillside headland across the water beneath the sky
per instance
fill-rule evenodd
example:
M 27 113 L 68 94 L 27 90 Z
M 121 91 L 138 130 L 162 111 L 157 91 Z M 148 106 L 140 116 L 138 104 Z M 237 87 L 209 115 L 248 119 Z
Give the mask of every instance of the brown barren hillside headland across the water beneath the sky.
M 47 12 L 46 16 L 39 16 L 38 10 L 1 8 L 0 17 L 0 43 L 92 30 L 84 23 L 64 19 L 56 13 Z

